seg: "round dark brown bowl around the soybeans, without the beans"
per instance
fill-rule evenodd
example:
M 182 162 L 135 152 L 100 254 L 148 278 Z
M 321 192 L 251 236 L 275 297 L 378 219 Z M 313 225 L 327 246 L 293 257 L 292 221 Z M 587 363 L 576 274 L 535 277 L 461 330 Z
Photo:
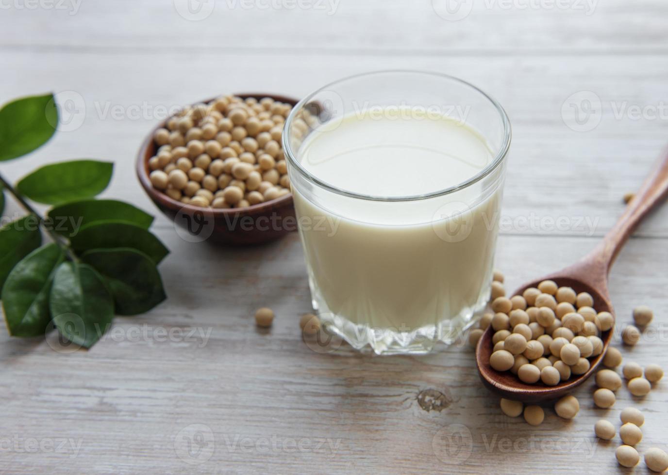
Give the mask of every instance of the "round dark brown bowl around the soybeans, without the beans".
M 291 97 L 271 94 L 236 94 L 238 97 L 271 97 L 276 101 L 295 105 L 297 100 Z M 203 102 L 209 102 L 208 99 Z M 162 191 L 155 189 L 148 178 L 148 160 L 156 154 L 156 143 L 153 135 L 157 129 L 166 126 L 166 120 L 157 125 L 148 134 L 137 156 L 137 176 L 144 191 L 160 211 L 165 213 L 184 231 L 182 237 L 193 242 L 208 240 L 216 244 L 243 246 L 260 244 L 276 240 L 283 235 L 295 231 L 297 221 L 291 194 L 283 195 L 271 201 L 243 208 L 214 209 L 186 205 L 170 198 Z

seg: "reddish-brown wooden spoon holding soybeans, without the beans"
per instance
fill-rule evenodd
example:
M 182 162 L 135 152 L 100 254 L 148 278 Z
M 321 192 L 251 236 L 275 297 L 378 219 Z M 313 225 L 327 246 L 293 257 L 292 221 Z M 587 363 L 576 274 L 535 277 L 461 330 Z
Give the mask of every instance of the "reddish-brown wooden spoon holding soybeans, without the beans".
M 608 292 L 610 268 L 622 246 L 629 239 L 629 235 L 645 215 L 661 203 L 667 195 L 668 155 L 659 160 L 655 169 L 645 179 L 640 191 L 629 202 L 617 224 L 605 235 L 603 242 L 597 248 L 576 264 L 533 282 L 528 282 L 511 295 L 522 295 L 522 292 L 527 288 L 536 287 L 539 282 L 550 279 L 554 280 L 558 286 L 572 287 L 575 292 L 589 292 L 594 298 L 593 307 L 597 312 L 610 312 L 615 315 Z M 546 386 L 542 382 L 526 384 L 511 372 L 498 372 L 492 369 L 490 355 L 492 354 L 493 330 L 490 326 L 482 334 L 476 347 L 478 372 L 480 372 L 480 378 L 487 388 L 507 399 L 540 402 L 560 398 L 580 386 L 596 371 L 612 340 L 614 330 L 613 327 L 601 335 L 604 345 L 603 352 L 596 358 L 591 358 L 589 371 L 581 376 L 571 376 L 568 381 L 560 382 L 556 386 Z

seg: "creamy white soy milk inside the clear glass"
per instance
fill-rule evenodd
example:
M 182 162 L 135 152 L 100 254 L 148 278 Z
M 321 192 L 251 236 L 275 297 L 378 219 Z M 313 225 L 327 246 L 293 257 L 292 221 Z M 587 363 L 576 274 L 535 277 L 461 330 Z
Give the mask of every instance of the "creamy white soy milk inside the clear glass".
M 490 289 L 500 189 L 466 182 L 494 158 L 476 131 L 446 117 L 359 113 L 312 131 L 297 153 L 337 193 L 293 189 L 313 304 L 353 346 L 375 350 L 383 333 L 447 340 L 484 305 Z M 318 227 L 316 224 L 321 223 Z M 329 316 L 329 317 L 328 317 Z

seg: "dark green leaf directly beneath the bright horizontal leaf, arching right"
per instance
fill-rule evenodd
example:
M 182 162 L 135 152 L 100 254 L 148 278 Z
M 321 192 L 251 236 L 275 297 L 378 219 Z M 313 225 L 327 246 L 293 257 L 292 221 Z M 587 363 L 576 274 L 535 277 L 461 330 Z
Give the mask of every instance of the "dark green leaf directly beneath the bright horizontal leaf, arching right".
M 142 209 L 114 199 L 86 199 L 65 203 L 51 208 L 47 217 L 53 220 L 53 229 L 67 237 L 96 221 L 125 221 L 144 229 L 148 229 L 153 222 L 153 216 Z

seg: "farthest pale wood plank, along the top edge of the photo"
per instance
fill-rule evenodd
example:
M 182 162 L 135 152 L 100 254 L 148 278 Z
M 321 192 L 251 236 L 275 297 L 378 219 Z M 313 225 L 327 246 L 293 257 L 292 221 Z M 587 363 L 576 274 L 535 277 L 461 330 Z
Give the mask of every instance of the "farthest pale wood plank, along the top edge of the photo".
M 3 9 L 0 45 L 124 53 L 219 54 L 232 49 L 242 54 L 289 50 L 443 56 L 664 53 L 668 46 L 662 21 L 668 5 L 661 0 L 643 1 L 641 8 L 624 0 L 463 1 L 460 12 L 470 14 L 460 21 L 437 14 L 444 13 L 444 0 L 204 1 L 202 12 L 210 15 L 201 21 L 179 15 L 174 5 L 186 0 L 59 3 L 65 8 Z M 265 8 L 271 5 L 285 7 Z

